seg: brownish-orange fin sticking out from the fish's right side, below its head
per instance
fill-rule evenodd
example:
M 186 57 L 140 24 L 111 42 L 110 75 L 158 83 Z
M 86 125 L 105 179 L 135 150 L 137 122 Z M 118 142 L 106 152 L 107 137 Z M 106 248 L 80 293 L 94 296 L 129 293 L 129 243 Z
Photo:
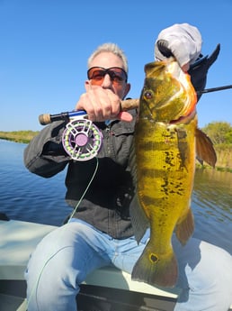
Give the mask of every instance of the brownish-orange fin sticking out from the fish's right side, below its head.
M 195 137 L 197 159 L 201 164 L 205 161 L 214 168 L 217 162 L 217 155 L 210 137 L 203 133 L 200 129 L 196 129 Z

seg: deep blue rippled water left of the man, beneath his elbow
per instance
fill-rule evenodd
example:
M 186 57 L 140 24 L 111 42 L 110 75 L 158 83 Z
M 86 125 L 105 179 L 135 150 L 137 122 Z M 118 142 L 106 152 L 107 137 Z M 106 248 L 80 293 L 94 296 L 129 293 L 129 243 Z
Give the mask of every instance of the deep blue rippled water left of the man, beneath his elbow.
M 65 171 L 41 178 L 25 169 L 24 143 L 0 140 L 0 212 L 10 219 L 60 225 L 71 212 L 65 202 Z

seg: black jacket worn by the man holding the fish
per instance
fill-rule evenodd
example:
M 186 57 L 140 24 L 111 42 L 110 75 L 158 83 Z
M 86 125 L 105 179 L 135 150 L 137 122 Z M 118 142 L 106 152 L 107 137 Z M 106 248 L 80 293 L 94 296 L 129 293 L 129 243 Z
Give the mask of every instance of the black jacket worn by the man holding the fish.
M 210 58 L 199 59 L 196 66 L 190 69 L 192 84 L 197 91 L 205 87 L 208 69 L 218 54 L 219 47 Z M 49 124 L 24 151 L 25 166 L 44 178 L 54 176 L 68 165 L 66 200 L 73 207 L 83 196 L 98 166 L 75 217 L 93 224 L 98 230 L 116 239 L 134 235 L 129 218 L 129 206 L 134 195 L 129 171 L 129 151 L 136 111 L 131 111 L 131 114 L 134 116 L 131 123 L 113 121 L 108 126 L 96 123 L 103 133 L 103 146 L 97 160 L 70 160 L 61 142 L 66 125 L 64 122 Z

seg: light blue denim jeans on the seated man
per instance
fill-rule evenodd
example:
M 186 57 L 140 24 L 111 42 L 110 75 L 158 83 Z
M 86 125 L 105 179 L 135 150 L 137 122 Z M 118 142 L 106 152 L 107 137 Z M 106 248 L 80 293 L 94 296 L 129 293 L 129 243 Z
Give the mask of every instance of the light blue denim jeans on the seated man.
M 25 272 L 28 311 L 76 311 L 76 294 L 93 270 L 114 265 L 131 273 L 148 234 L 139 243 L 115 240 L 83 221 L 49 233 L 32 253 Z M 173 239 L 181 294 L 175 311 L 227 311 L 232 303 L 232 257 L 207 242 Z

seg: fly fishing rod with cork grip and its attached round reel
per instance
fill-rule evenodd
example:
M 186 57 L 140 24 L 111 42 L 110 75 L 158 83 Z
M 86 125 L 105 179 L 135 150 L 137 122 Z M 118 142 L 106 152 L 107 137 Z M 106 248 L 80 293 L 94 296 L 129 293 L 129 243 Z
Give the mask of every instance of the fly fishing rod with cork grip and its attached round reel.
M 232 88 L 230 86 L 206 88 L 197 92 L 198 95 Z M 120 102 L 120 110 L 138 108 L 139 99 L 127 99 Z M 40 114 L 41 125 L 54 121 L 66 121 L 66 128 L 62 135 L 62 144 L 67 154 L 73 160 L 91 160 L 100 151 L 103 143 L 103 134 L 98 127 L 88 120 L 84 110 L 65 112 L 61 114 Z

